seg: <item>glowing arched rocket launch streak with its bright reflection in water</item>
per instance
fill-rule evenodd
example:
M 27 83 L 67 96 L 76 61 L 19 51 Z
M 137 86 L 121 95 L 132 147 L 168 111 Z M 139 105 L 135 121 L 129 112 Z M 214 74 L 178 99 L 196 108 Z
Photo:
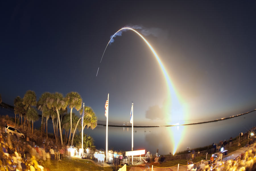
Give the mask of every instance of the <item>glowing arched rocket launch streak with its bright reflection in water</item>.
M 156 60 L 158 62 L 158 64 L 160 65 L 161 69 L 162 69 L 162 72 L 164 74 L 164 77 L 165 77 L 165 80 L 166 80 L 166 83 L 167 83 L 167 86 L 168 86 L 168 94 L 170 95 L 168 97 L 168 105 L 166 106 L 166 120 L 167 120 L 167 124 L 172 124 L 170 121 L 172 121 L 172 115 L 175 114 L 175 119 L 178 120 L 178 121 L 183 121 L 185 118 L 184 118 L 184 115 L 185 115 L 185 109 L 184 107 L 181 105 L 181 103 L 179 102 L 180 101 L 180 98 L 177 97 L 176 95 L 176 92 L 175 92 L 175 89 L 174 89 L 174 86 L 172 85 L 172 81 L 166 71 L 166 69 L 164 68 L 164 65 L 162 64 L 160 58 L 158 57 L 158 55 L 156 54 L 155 50 L 152 48 L 152 46 L 148 43 L 148 41 L 139 33 L 137 32 L 136 30 L 132 29 L 132 28 L 129 28 L 129 27 L 125 27 L 125 28 L 121 28 L 119 29 L 114 35 L 112 35 L 110 41 L 108 42 L 106 48 L 108 47 L 108 45 L 110 44 L 111 40 L 113 39 L 113 37 L 115 37 L 115 35 L 123 30 L 123 29 L 129 29 L 129 30 L 132 30 L 134 31 L 135 33 L 137 33 L 143 40 L 144 42 L 148 45 L 148 47 L 150 48 L 150 50 L 152 51 L 152 53 L 154 54 L 154 56 L 156 57 Z M 102 55 L 102 58 L 104 56 L 104 53 L 106 51 L 106 48 L 103 52 L 103 55 Z M 100 60 L 100 63 L 102 61 L 102 58 Z M 99 70 L 99 69 L 98 69 Z M 97 75 L 98 75 L 98 71 L 97 71 Z M 97 76 L 96 75 L 96 76 Z M 179 124 L 183 124 L 183 123 L 179 123 Z M 176 127 L 176 126 L 175 126 Z M 173 141 L 173 147 L 174 147 L 174 151 L 173 151 L 173 154 L 176 153 L 176 150 L 177 150 L 177 147 L 178 147 L 178 144 L 179 142 L 181 141 L 181 138 L 182 138 L 182 135 L 183 135 L 183 132 L 184 132 L 184 128 L 182 129 L 168 129 L 170 131 L 170 138 L 172 139 Z

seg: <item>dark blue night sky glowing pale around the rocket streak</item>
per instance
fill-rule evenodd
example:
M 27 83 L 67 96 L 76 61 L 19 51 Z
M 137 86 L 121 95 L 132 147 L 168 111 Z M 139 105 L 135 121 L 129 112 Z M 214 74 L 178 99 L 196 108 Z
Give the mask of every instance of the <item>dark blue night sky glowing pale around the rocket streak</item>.
M 37 99 L 76 91 L 104 123 L 110 93 L 110 124 L 129 122 L 132 101 L 135 125 L 173 123 L 162 109 L 165 78 L 138 35 L 115 37 L 100 63 L 111 35 L 140 26 L 187 106 L 187 123 L 256 108 L 255 1 L 1 1 L 0 9 L 7 104 L 27 90 Z

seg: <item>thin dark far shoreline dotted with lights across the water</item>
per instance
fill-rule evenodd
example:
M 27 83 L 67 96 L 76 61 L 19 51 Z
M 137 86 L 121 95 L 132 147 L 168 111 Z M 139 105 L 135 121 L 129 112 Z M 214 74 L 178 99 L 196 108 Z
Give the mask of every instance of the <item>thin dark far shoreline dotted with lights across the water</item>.
M 223 121 L 223 120 L 226 120 L 226 119 L 231 119 L 231 118 L 239 117 L 239 116 L 242 116 L 242 115 L 246 115 L 246 114 L 254 112 L 254 111 L 256 111 L 256 109 L 254 109 L 252 111 L 249 111 L 249 112 L 246 112 L 246 113 L 230 116 L 228 118 L 221 118 L 221 119 L 216 119 L 216 120 L 212 120 L 212 121 L 205 121 L 205 122 L 198 122 L 198 123 L 189 123 L 189 124 L 181 124 L 181 125 L 163 125 L 163 126 L 135 126 L 134 125 L 133 128 L 152 128 L 152 127 L 164 127 L 164 126 L 168 127 L 168 126 L 197 125 L 197 124 Z M 98 124 L 98 125 L 106 126 L 106 124 Z M 125 128 L 131 128 L 132 127 L 131 125 L 108 125 L 108 126 L 111 126 L 111 127 L 125 127 Z

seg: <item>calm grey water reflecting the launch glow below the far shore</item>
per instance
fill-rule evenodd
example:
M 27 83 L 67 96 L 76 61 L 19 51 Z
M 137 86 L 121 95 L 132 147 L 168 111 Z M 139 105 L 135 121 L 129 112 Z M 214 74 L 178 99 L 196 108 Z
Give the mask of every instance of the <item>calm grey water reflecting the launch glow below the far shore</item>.
M 13 111 L 0 108 L 1 114 L 14 116 Z M 256 125 L 256 112 L 227 119 L 223 121 L 175 127 L 133 128 L 133 150 L 146 149 L 152 154 L 159 149 L 160 154 L 168 154 L 174 150 L 174 141 L 178 143 L 177 151 L 186 150 L 187 147 L 196 148 L 210 145 L 220 140 L 229 140 L 230 136 L 236 137 L 240 132 L 246 132 Z M 39 127 L 41 120 L 34 126 Z M 48 122 L 48 131 L 53 132 L 52 122 Z M 106 126 L 98 125 L 94 130 L 84 129 L 95 140 L 97 149 L 106 148 Z M 114 150 L 131 151 L 131 128 L 108 127 L 108 147 Z M 181 137 L 181 138 L 177 138 Z

